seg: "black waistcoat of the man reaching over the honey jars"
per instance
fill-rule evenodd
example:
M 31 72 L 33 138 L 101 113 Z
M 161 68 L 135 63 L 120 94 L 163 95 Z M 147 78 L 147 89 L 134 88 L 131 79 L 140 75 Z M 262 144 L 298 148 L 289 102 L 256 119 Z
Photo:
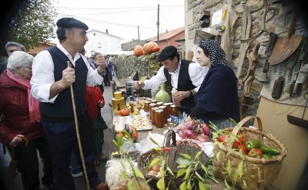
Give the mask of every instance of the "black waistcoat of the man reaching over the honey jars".
M 181 60 L 181 67 L 180 67 L 180 73 L 179 73 L 179 78 L 178 78 L 178 86 L 175 87 L 177 88 L 178 91 L 188 91 L 188 90 L 193 90 L 196 88 L 192 84 L 192 80 L 190 79 L 189 76 L 189 65 L 191 64 L 191 61 L 188 60 Z M 169 74 L 168 70 L 164 69 L 164 74 L 167 79 L 167 81 L 171 84 L 171 75 Z M 174 86 L 172 86 L 174 87 Z M 185 98 L 184 100 L 181 101 L 181 106 L 184 107 L 194 107 L 194 97 L 188 97 Z

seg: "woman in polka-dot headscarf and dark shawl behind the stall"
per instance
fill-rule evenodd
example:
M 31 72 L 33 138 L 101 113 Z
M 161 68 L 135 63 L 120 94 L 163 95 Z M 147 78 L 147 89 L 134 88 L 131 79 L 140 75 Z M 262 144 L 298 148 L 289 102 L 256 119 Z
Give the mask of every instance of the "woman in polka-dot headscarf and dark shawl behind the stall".
M 226 60 L 222 47 L 214 40 L 201 39 L 196 59 L 201 67 L 208 67 L 200 89 L 195 94 L 195 108 L 187 118 L 213 122 L 218 128 L 234 126 L 230 118 L 239 121 L 237 78 Z

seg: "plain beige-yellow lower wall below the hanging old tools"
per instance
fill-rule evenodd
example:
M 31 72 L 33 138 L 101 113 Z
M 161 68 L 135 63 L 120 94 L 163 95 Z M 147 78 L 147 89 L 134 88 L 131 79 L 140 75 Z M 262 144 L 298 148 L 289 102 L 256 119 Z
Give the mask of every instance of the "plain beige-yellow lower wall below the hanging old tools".
M 261 98 L 257 116 L 261 118 L 263 130 L 277 137 L 288 149 L 282 162 L 278 179 L 274 186 L 278 190 L 295 190 L 308 158 L 308 129 L 290 124 L 287 114 L 298 106 L 279 104 Z M 300 107 L 292 115 L 302 118 L 304 107 Z M 308 120 L 308 109 L 304 119 Z M 254 123 L 255 126 L 258 124 Z

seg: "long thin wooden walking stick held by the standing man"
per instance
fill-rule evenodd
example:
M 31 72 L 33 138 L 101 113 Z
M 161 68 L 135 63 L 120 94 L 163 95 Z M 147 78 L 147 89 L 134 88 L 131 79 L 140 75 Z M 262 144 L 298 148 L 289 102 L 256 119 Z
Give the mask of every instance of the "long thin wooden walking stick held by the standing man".
M 70 68 L 71 62 L 67 61 L 67 64 L 68 64 L 68 68 Z M 87 174 L 86 168 L 85 168 L 85 162 L 84 162 L 83 151 L 82 151 L 80 135 L 79 135 L 79 127 L 78 127 L 78 120 L 77 120 L 77 113 L 76 113 L 76 104 L 75 104 L 73 84 L 71 84 L 70 87 L 71 87 L 71 95 L 72 95 L 72 103 L 73 103 L 73 111 L 74 111 L 74 119 L 75 119 L 75 128 L 76 128 L 78 147 L 79 147 L 79 152 L 80 152 L 80 157 L 81 157 L 82 169 L 83 169 L 83 174 L 84 174 L 87 190 L 90 190 L 89 178 L 88 178 L 88 174 Z

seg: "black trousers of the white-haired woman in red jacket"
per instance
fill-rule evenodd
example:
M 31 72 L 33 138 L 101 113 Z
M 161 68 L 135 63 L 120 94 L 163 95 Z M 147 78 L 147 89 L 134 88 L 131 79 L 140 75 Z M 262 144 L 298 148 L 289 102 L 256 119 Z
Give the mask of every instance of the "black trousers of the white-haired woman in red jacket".
M 45 138 L 29 141 L 29 146 L 19 144 L 16 147 L 17 171 L 21 173 L 24 190 L 39 190 L 39 160 L 38 152 L 43 158 L 42 183 L 49 185 L 54 183 L 52 165 L 48 153 L 48 146 Z

